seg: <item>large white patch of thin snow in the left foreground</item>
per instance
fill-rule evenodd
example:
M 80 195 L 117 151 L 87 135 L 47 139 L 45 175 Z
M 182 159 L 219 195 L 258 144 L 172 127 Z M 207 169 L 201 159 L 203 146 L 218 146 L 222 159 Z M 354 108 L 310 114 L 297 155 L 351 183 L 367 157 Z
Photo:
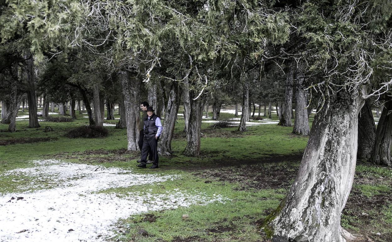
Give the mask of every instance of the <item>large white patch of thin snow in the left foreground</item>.
M 0 181 L 9 175 L 20 176 L 13 181 L 23 183 L 23 189 L 27 190 L 23 193 L 0 193 L 2 242 L 99 242 L 114 235 L 113 224 L 118 219 L 132 214 L 228 200 L 220 195 L 207 197 L 203 193 L 180 190 L 160 195 L 149 192 L 128 195 L 94 193 L 109 188 L 163 182 L 180 176 L 134 174 L 132 170 L 56 160 L 35 163 L 35 167 L 14 169 L 0 176 Z M 25 176 L 29 180 L 24 180 Z M 43 186 L 47 189 L 42 189 Z

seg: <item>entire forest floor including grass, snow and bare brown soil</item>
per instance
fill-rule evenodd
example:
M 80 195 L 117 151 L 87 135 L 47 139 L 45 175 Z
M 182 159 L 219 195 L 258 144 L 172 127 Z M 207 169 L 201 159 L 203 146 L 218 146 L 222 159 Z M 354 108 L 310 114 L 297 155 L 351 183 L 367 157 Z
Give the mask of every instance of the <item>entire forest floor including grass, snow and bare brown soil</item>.
M 179 116 L 173 155 L 151 171 L 136 168 L 123 129 L 65 137 L 88 124 L 83 116 L 34 129 L 18 120 L 15 133 L 0 124 L 1 241 L 269 241 L 263 220 L 289 191 L 308 139 L 276 124 L 239 132 L 203 122 L 201 155 L 187 157 Z M 392 241 L 392 169 L 357 162 L 341 224 L 357 241 Z

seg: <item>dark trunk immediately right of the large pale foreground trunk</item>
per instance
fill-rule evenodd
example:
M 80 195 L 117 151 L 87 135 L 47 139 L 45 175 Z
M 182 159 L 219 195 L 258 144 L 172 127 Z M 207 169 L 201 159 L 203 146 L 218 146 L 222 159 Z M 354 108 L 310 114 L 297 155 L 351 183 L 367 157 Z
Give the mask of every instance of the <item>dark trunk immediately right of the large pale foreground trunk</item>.
M 376 139 L 376 125 L 370 100 L 367 99 L 358 115 L 358 159 L 368 160 L 372 155 L 374 140 Z

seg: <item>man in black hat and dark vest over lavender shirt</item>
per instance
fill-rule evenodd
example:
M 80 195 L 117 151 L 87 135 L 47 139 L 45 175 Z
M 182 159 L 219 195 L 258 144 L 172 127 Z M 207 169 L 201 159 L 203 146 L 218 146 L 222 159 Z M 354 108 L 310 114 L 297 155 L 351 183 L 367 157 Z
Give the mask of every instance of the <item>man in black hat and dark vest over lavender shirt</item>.
M 140 159 L 140 164 L 136 165 L 140 168 L 146 168 L 147 155 L 149 150 L 152 151 L 152 156 L 154 157 L 154 162 L 149 168 L 158 168 L 158 149 L 157 141 L 159 135 L 162 132 L 161 119 L 155 115 L 154 109 L 152 107 L 147 107 L 147 118 L 144 119 L 144 138 L 142 147 L 142 158 Z

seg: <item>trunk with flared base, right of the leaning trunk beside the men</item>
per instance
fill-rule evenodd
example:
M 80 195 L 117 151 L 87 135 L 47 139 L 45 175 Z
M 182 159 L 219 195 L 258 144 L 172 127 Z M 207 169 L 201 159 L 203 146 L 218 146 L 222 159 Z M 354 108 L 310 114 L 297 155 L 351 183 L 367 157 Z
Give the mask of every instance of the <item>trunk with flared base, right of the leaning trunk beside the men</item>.
M 201 111 L 203 110 L 205 100 L 202 97 L 193 100 L 196 95 L 198 93 L 195 94 L 194 91 L 189 92 L 191 111 L 187 131 L 187 146 L 183 152 L 183 155 L 186 156 L 200 155 L 201 116 L 203 115 Z

